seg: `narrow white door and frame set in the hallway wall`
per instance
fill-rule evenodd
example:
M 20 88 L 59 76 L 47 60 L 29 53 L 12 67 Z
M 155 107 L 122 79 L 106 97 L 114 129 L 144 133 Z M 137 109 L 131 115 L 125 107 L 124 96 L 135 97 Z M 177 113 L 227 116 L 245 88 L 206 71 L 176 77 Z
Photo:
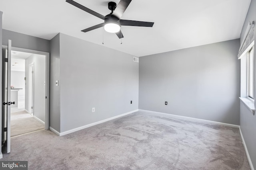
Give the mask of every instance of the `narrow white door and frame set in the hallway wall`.
M 34 115 L 34 62 L 28 64 L 28 113 Z

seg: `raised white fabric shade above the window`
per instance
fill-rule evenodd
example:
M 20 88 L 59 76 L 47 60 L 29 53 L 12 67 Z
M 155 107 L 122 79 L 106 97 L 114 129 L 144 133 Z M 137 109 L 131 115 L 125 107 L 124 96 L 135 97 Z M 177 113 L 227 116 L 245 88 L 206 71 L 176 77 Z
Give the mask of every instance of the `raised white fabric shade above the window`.
M 246 29 L 244 40 L 240 46 L 238 52 L 238 59 L 244 55 L 254 45 L 254 21 L 252 23 L 249 22 L 248 27 Z

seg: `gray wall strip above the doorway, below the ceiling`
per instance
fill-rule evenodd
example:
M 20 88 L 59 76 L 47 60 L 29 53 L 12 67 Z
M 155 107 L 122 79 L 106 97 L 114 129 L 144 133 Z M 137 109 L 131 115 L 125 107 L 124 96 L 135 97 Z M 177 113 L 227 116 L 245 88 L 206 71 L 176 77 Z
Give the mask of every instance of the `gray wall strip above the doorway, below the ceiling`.
M 8 44 L 8 39 L 12 40 L 12 47 L 50 52 L 50 41 L 46 39 L 3 29 L 3 45 Z

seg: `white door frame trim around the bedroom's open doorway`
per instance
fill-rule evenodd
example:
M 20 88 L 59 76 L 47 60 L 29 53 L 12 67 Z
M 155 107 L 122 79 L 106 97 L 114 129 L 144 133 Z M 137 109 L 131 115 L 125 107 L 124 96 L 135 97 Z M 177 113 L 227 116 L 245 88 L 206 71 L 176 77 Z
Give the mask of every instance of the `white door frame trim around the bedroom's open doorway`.
M 2 45 L 2 47 L 7 47 L 6 45 Z M 26 53 L 34 53 L 45 55 L 45 129 L 49 129 L 49 99 L 50 99 L 50 53 L 44 51 L 36 51 L 18 47 L 12 47 L 13 51 L 21 51 Z

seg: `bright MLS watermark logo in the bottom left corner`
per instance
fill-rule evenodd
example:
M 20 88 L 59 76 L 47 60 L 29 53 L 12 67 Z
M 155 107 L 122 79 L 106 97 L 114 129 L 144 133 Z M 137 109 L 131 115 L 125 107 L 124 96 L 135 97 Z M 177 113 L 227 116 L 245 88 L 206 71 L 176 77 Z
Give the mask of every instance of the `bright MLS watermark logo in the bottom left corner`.
M 0 170 L 28 170 L 28 161 L 0 161 Z

